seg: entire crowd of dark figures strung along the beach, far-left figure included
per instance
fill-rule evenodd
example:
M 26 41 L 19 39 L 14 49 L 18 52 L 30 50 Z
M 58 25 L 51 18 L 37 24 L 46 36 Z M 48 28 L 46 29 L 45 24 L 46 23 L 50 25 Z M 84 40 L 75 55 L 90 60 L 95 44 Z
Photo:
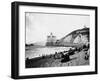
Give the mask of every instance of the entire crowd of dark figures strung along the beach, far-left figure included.
M 85 52 L 85 60 L 89 59 L 89 44 L 88 45 L 83 45 L 81 47 L 71 47 L 69 50 L 65 50 L 62 52 L 55 52 L 55 54 L 50 54 L 50 55 L 43 55 L 39 58 L 45 59 L 45 58 L 54 58 L 56 59 L 61 59 L 61 62 L 68 62 L 71 60 L 70 56 L 74 55 L 75 53 L 81 52 L 81 51 L 86 51 Z M 26 61 L 28 61 L 29 59 L 27 58 Z

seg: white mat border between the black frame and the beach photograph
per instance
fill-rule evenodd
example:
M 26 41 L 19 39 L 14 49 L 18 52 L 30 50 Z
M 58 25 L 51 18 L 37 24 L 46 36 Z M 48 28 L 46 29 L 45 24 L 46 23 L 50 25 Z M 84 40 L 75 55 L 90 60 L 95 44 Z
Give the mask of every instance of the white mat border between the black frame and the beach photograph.
M 25 12 L 45 12 L 90 15 L 90 65 L 53 68 L 25 68 Z M 19 75 L 41 75 L 95 71 L 95 10 L 52 8 L 37 6 L 19 7 Z

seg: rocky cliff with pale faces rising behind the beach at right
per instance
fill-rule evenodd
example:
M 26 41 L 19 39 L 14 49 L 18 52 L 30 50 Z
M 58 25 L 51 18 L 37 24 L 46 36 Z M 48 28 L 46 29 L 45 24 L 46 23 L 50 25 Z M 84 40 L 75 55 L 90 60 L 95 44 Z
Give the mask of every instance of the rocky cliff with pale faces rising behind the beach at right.
M 89 42 L 89 28 L 75 30 L 57 41 L 57 44 L 85 44 Z

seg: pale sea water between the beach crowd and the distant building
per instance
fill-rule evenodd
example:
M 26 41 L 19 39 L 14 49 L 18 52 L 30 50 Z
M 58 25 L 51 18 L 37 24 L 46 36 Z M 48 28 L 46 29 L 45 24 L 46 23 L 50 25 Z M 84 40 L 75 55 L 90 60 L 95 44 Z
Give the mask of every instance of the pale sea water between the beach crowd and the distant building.
M 45 55 L 55 54 L 55 52 L 68 51 L 70 47 L 29 47 L 28 50 L 25 50 L 25 58 L 36 58 Z

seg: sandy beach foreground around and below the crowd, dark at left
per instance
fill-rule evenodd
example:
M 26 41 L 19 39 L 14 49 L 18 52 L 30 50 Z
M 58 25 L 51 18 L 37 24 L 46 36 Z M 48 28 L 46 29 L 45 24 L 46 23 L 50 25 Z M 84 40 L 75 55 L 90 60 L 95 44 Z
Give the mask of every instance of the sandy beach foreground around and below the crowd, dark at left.
M 75 52 L 74 55 L 70 55 L 70 60 L 66 62 L 61 62 L 63 58 L 54 58 L 54 55 L 28 59 L 26 60 L 26 68 L 89 65 L 89 59 L 85 59 L 86 52 L 83 50 Z

